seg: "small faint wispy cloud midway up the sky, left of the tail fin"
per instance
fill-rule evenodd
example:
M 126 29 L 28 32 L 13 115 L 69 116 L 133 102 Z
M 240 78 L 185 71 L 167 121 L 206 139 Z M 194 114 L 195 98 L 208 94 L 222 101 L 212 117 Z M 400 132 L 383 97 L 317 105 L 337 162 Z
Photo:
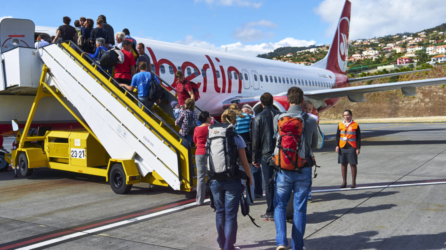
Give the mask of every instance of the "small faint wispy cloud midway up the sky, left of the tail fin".
M 242 42 L 251 42 L 264 38 L 271 38 L 274 36 L 273 32 L 265 32 L 260 28 L 254 28 L 259 26 L 266 28 L 276 28 L 277 24 L 274 24 L 273 22 L 268 20 L 252 21 L 240 27 L 237 27 L 234 31 L 233 36 L 237 40 L 240 40 Z

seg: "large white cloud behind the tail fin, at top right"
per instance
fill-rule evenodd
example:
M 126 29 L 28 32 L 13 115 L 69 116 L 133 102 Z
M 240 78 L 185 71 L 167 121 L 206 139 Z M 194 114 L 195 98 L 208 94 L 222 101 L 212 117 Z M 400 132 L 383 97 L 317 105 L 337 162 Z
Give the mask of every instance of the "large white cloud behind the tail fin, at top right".
M 372 38 L 401 32 L 417 32 L 444 22 L 443 0 L 350 0 L 349 39 Z M 335 34 L 344 0 L 325 0 L 314 12 L 330 24 L 326 36 Z

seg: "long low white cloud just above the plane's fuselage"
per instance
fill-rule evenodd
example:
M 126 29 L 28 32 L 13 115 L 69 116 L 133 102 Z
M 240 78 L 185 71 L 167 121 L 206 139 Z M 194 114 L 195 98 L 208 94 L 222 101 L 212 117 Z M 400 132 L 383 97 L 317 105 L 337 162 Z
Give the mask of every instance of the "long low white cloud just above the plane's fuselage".
M 272 52 L 276 48 L 292 46 L 292 47 L 300 47 L 300 46 L 309 46 L 315 44 L 314 40 L 306 41 L 306 40 L 297 40 L 292 37 L 287 37 L 275 43 L 261 43 L 261 44 L 242 44 L 241 42 L 236 42 L 232 44 L 223 44 L 219 47 L 215 46 L 215 44 L 211 44 L 206 41 L 194 39 L 193 36 L 186 36 L 184 40 L 178 40 L 175 43 L 184 44 L 189 46 L 194 46 L 198 48 L 210 48 L 219 51 L 225 51 L 227 48 L 227 52 L 246 55 L 246 56 L 257 56 L 258 54 L 263 54 L 266 52 Z

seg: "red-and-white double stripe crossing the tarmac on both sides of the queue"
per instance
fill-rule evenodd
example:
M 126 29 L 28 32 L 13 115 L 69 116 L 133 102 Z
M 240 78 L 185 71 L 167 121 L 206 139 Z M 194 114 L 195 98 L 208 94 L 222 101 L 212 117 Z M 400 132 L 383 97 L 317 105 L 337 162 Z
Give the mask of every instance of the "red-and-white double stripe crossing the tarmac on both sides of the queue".
M 391 187 L 404 187 L 404 186 L 416 186 L 416 185 L 438 185 L 438 184 L 446 184 L 446 179 L 436 179 L 436 180 L 425 180 L 425 181 L 400 181 L 400 182 L 387 182 L 387 183 L 372 183 L 372 184 L 365 184 L 365 185 L 357 185 L 355 189 L 345 188 L 345 189 L 339 189 L 339 188 L 327 188 L 327 187 L 314 187 L 312 188 L 312 193 L 323 193 L 323 192 L 337 192 L 337 191 L 347 191 L 347 190 L 365 190 L 365 189 L 376 189 L 376 188 L 391 188 Z M 204 202 L 208 203 L 210 202 L 210 199 L 206 199 Z M 173 207 L 175 206 L 175 207 Z M 160 216 L 163 214 L 169 214 L 175 211 L 189 209 L 195 205 L 195 199 L 187 199 L 182 202 L 177 202 L 173 204 L 169 204 L 166 206 L 161 206 L 158 208 L 154 208 L 151 210 L 146 210 L 144 212 L 139 212 L 135 214 L 128 214 L 119 218 L 113 218 L 108 219 L 103 222 L 97 222 L 94 224 L 90 224 L 87 226 L 80 226 L 76 227 L 74 229 L 63 229 L 63 231 L 59 231 L 53 234 L 48 234 L 45 236 L 32 238 L 29 240 L 25 240 L 23 242 L 17 242 L 8 246 L 2 246 L 0 247 L 0 250 L 8 250 L 8 249 L 16 249 L 16 247 L 23 246 L 21 248 L 17 248 L 16 250 L 32 250 L 35 248 L 41 248 L 44 246 L 48 246 L 51 244 L 57 244 L 59 242 L 72 240 L 77 237 L 85 236 L 88 234 L 93 235 L 104 235 L 103 233 L 100 234 L 94 234 L 99 231 L 103 230 L 110 230 L 112 228 L 118 227 L 118 226 L 124 226 L 127 224 L 131 224 L 134 222 L 139 222 L 141 220 L 145 220 L 148 218 L 153 218 L 156 216 Z M 161 210 L 161 211 L 160 211 Z M 147 214 L 149 212 L 154 212 L 151 214 Z M 138 216 L 139 215 L 139 216 Z M 135 217 L 137 216 L 137 217 Z M 125 219 L 125 220 L 123 220 Z M 122 221 L 121 221 L 122 220 Z M 110 224 L 107 224 L 110 223 Z M 107 224 L 107 225 L 104 225 Z M 98 226 L 98 227 L 95 227 Z M 92 228 L 95 227 L 95 228 Z M 88 229 L 91 228 L 91 229 Z M 85 230 L 88 229 L 88 230 Z M 68 235 L 63 235 L 68 234 Z M 58 238 L 53 238 L 58 237 Z M 52 238 L 52 239 L 49 239 Z M 41 241 L 41 242 L 38 242 Z M 34 243 L 37 242 L 37 243 Z M 34 244 L 32 244 L 34 243 Z M 32 244 L 29 246 L 24 246 L 27 244 Z

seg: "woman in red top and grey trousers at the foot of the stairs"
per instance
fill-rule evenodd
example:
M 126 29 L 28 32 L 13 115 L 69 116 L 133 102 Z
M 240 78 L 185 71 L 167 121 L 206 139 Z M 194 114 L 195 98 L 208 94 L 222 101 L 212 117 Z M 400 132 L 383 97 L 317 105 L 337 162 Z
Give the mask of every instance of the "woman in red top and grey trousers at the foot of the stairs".
M 198 121 L 202 123 L 194 130 L 194 143 L 197 145 L 195 150 L 195 164 L 197 165 L 197 205 L 201 206 L 206 196 L 206 156 L 205 146 L 209 125 L 211 125 L 211 115 L 207 111 L 203 111 L 198 116 Z

